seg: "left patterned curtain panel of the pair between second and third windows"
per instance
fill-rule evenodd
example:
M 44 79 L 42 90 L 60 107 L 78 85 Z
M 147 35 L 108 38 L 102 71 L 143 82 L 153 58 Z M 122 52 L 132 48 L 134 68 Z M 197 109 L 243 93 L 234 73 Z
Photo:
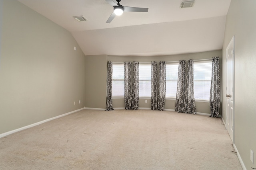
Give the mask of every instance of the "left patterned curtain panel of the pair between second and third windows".
M 157 63 L 151 62 L 151 109 L 158 110 Z

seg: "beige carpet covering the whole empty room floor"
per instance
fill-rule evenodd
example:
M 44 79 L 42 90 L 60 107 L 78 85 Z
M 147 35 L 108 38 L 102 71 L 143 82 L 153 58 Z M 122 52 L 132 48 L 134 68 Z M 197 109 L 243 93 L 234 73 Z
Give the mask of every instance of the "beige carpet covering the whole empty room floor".
M 82 110 L 0 138 L 1 170 L 242 170 L 220 118 Z

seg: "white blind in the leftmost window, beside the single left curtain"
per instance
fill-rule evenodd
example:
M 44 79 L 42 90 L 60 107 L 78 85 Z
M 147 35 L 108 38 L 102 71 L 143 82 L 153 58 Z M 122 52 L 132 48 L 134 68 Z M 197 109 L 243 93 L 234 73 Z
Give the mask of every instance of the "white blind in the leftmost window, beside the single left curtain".
M 112 96 L 124 96 L 124 64 L 113 63 Z

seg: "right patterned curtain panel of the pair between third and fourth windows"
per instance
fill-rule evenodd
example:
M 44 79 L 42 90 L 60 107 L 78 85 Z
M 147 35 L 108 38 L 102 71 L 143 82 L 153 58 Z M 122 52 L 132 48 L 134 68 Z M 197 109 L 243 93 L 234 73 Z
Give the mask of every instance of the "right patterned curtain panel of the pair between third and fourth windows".
M 187 110 L 188 114 L 196 114 L 196 103 L 194 96 L 194 60 L 188 60 L 188 74 L 187 74 Z

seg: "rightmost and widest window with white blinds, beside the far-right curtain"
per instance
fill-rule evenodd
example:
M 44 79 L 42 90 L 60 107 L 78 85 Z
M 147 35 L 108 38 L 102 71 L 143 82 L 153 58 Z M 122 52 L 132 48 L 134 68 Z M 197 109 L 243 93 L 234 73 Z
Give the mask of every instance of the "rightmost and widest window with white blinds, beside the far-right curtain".
M 196 100 L 209 100 L 212 61 L 194 62 L 194 95 Z

